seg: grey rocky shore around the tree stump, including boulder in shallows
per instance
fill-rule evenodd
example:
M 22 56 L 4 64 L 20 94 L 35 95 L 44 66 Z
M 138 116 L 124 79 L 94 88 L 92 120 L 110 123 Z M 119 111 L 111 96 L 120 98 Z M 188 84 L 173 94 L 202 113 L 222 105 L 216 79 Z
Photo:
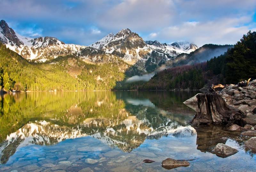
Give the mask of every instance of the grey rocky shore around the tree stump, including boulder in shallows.
M 224 130 L 244 138 L 246 150 L 256 152 L 256 80 L 251 82 L 242 81 L 238 84 L 212 86 L 214 94 L 219 94 L 229 106 L 239 109 L 245 117 L 237 120 L 234 124 L 224 125 Z M 200 94 L 200 93 L 199 93 Z M 197 95 L 186 100 L 184 104 L 197 111 Z M 212 153 L 220 157 L 235 154 L 237 150 L 225 144 L 217 144 Z

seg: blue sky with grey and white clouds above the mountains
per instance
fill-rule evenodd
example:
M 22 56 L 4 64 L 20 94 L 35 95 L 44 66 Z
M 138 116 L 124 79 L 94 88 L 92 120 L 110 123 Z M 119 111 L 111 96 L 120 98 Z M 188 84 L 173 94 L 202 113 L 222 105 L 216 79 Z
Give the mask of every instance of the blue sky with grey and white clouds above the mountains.
M 90 45 L 129 28 L 144 40 L 234 44 L 256 31 L 256 0 L 0 0 L 0 19 L 29 37 Z

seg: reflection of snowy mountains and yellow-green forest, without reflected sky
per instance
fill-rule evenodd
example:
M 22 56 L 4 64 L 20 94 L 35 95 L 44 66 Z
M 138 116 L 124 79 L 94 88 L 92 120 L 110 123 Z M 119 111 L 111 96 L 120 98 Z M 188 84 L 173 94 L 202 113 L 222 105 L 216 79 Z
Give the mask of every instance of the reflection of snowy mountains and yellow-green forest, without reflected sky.
M 145 139 L 196 133 L 194 128 L 186 126 L 186 121 L 192 116 L 178 111 L 173 113 L 164 108 L 165 105 L 152 103 L 148 99 L 154 97 L 152 93 L 149 93 L 150 96 L 143 93 L 140 97 L 134 94 L 137 92 L 6 95 L 1 100 L 0 109 L 0 125 L 4 126 L 0 129 L 1 163 L 6 163 L 18 147 L 53 145 L 87 135 L 111 147 L 131 152 Z M 174 101 L 170 104 L 173 108 L 183 101 L 176 100 L 172 95 L 164 96 L 164 99 Z

